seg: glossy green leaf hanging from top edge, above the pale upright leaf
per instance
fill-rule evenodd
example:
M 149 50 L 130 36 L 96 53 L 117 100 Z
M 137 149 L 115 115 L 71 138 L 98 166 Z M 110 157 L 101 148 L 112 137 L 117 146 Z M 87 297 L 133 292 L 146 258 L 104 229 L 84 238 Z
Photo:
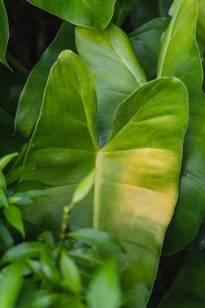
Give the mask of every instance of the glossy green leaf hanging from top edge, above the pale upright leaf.
M 113 0 L 28 0 L 74 25 L 104 29 L 111 21 Z

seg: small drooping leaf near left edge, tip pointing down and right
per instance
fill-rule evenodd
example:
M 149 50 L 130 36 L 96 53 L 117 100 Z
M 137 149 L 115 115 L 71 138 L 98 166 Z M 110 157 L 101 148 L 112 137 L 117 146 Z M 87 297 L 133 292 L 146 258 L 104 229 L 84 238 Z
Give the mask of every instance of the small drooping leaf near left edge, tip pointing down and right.
M 25 238 L 24 223 L 19 209 L 17 209 L 14 205 L 10 205 L 9 207 L 4 207 L 3 213 L 6 220 L 12 225 L 12 227 L 17 229 L 21 233 L 22 237 Z

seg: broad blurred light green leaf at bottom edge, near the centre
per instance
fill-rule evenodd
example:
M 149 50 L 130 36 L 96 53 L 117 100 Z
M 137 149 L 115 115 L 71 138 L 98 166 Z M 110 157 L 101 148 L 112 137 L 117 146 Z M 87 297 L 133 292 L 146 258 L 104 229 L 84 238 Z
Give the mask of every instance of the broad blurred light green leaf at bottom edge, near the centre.
M 89 308 L 119 308 L 121 296 L 116 262 L 109 260 L 92 276 L 86 294 L 87 304 Z

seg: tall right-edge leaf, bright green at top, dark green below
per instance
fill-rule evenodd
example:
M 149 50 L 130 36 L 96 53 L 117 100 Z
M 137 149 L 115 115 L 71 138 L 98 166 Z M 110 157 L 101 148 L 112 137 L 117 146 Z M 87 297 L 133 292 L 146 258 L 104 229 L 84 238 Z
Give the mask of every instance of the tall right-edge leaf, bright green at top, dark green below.
M 197 0 L 176 0 L 172 20 L 161 40 L 158 77 L 176 76 L 189 93 L 189 123 L 183 146 L 179 199 L 164 243 L 174 253 L 195 236 L 205 216 L 205 94 L 196 44 Z

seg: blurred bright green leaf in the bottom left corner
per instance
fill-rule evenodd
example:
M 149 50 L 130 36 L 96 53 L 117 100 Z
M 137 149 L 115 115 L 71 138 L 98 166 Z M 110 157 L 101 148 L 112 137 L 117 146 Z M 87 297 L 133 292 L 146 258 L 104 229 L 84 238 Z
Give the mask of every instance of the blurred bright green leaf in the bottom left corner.
M 22 270 L 25 265 L 11 264 L 0 272 L 0 306 L 1 308 L 15 307 L 15 302 L 20 293 L 23 277 Z

